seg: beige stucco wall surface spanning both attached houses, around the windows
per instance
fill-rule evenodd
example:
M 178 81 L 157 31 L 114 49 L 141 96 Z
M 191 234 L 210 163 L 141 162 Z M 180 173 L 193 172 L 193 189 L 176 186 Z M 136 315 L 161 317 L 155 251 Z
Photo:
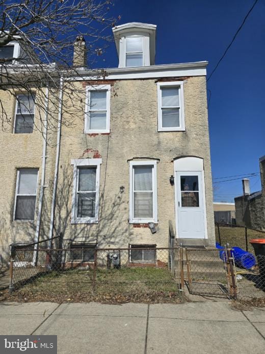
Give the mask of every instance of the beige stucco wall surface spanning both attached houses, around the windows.
M 113 80 L 111 82 L 111 133 L 96 136 L 84 134 L 84 98 L 85 86 L 88 83 L 75 83 L 78 95 L 73 98 L 74 118 L 70 108 L 63 112 L 63 123 L 72 122 L 72 124 L 62 127 L 55 235 L 61 233 L 65 240 L 87 242 L 97 240 L 99 247 L 126 247 L 128 243 L 167 247 L 169 220 L 172 220 L 175 228 L 174 187 L 169 183 L 169 177 L 173 174 L 173 160 L 181 156 L 198 156 L 204 160 L 208 241 L 210 245 L 214 244 L 205 77 L 190 77 L 183 80 L 186 131 L 157 132 L 157 80 Z M 13 117 L 14 99 L 3 92 L 1 98 L 5 102 L 10 117 Z M 76 111 L 76 107 L 80 107 L 80 110 Z M 54 117 L 57 119 L 56 110 Z M 35 120 L 38 122 L 38 114 Z M 35 222 L 32 223 L 13 221 L 16 169 L 39 168 L 39 192 L 43 139 L 41 131 L 37 129 L 32 134 L 13 134 L 11 126 L 8 126 L 6 132 L 2 131 L 0 134 L 0 176 L 3 191 L 1 196 L 3 199 L 0 203 L 2 226 L 0 242 L 2 249 L 5 249 L 2 250 L 3 255 L 11 242 L 31 242 L 34 239 L 36 217 Z M 48 237 L 56 137 L 56 131 L 49 131 L 41 223 L 42 238 Z M 99 223 L 71 225 L 73 167 L 70 160 L 99 155 L 102 157 Z M 151 234 L 148 228 L 134 227 L 128 223 L 128 160 L 146 158 L 160 159 L 157 163 L 158 224 L 155 234 Z M 37 205 L 38 195 L 36 210 Z

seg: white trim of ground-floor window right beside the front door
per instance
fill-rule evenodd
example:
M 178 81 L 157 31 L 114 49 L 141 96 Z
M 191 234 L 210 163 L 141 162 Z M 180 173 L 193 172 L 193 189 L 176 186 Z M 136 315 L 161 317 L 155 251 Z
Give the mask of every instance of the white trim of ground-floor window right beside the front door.
M 156 163 L 157 161 L 130 161 L 129 162 L 129 223 L 157 223 L 157 179 L 156 179 Z M 134 218 L 134 166 L 153 166 L 152 183 L 153 183 L 153 218 L 136 219 Z

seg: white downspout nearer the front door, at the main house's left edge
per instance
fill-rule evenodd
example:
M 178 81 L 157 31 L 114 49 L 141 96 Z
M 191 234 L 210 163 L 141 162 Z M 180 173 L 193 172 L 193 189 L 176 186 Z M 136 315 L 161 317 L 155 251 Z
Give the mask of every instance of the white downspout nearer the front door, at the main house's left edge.
M 55 204 L 58 182 L 58 170 L 59 170 L 59 157 L 60 157 L 60 145 L 61 145 L 61 127 L 62 127 L 62 100 L 63 100 L 63 78 L 60 79 L 60 93 L 59 93 L 59 107 L 58 107 L 58 128 L 57 128 L 57 150 L 56 150 L 56 162 L 55 162 L 55 178 L 54 178 L 54 190 L 52 191 L 52 202 L 50 212 L 50 228 L 49 228 L 49 246 L 52 245 L 52 234 L 54 231 L 54 219 L 55 219 Z

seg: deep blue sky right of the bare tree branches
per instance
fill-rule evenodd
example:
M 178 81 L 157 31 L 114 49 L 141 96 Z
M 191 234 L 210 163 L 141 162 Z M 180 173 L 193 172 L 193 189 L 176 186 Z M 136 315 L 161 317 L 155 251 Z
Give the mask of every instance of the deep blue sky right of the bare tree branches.
M 207 60 L 210 74 L 253 3 L 116 0 L 111 11 L 121 15 L 118 24 L 157 25 L 156 64 Z M 258 158 L 265 155 L 264 15 L 265 0 L 259 0 L 207 84 L 211 91 L 208 115 L 213 178 L 258 172 Z M 104 57 L 105 67 L 117 67 L 114 43 Z M 215 201 L 233 202 L 242 194 L 241 179 L 215 185 Z M 250 187 L 251 192 L 260 190 L 259 176 L 250 178 Z

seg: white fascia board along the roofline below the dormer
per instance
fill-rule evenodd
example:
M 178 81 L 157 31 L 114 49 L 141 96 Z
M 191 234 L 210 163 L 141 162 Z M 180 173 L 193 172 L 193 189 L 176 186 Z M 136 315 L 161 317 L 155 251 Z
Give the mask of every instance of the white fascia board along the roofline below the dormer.
M 148 79 L 148 78 L 162 78 L 162 77 L 180 77 L 180 76 L 206 76 L 207 61 L 195 63 L 181 63 L 181 64 L 166 64 L 166 65 L 150 65 L 141 67 L 121 67 L 105 69 L 104 79 Z M 79 71 L 81 76 L 66 77 L 66 80 L 100 80 L 102 70 L 96 71 Z M 67 73 L 65 73 L 67 76 Z

